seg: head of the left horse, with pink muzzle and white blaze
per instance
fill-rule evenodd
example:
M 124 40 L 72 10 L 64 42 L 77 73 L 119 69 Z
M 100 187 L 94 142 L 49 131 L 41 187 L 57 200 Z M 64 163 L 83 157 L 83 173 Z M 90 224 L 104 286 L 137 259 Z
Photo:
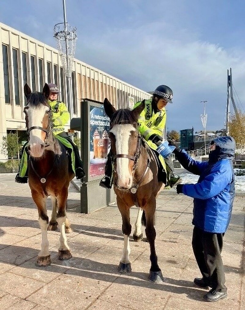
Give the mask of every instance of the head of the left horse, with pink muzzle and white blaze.
M 42 157 L 45 142 L 50 132 L 51 109 L 48 104 L 49 86 L 45 83 L 42 93 L 32 92 L 25 84 L 27 105 L 24 108 L 28 132 L 28 150 L 32 157 Z

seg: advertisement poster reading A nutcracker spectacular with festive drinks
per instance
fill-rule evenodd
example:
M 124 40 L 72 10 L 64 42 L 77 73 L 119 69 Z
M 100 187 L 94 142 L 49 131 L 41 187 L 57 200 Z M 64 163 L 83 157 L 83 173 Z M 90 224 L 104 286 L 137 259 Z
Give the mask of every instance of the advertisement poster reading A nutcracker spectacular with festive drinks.
M 103 176 L 110 151 L 110 118 L 104 107 L 90 106 L 90 177 Z

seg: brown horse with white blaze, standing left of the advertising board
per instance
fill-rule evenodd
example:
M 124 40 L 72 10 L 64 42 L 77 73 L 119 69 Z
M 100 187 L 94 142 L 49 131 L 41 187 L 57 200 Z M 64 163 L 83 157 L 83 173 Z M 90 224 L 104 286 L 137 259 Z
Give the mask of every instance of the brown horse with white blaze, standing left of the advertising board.
M 51 131 L 52 112 L 47 101 L 49 93 L 47 84 L 42 93 L 32 93 L 27 84 L 24 86 L 27 98 L 24 113 L 28 132 L 28 179 L 42 230 L 42 245 L 37 257 L 37 266 L 47 266 L 51 263 L 47 230 L 56 230 L 57 224 L 60 227 L 58 258 L 63 260 L 72 257 L 65 233 L 72 231 L 66 216 L 66 201 L 74 173 L 68 168 L 65 147 L 58 143 Z M 46 210 L 48 196 L 51 196 L 52 200 L 50 223 Z

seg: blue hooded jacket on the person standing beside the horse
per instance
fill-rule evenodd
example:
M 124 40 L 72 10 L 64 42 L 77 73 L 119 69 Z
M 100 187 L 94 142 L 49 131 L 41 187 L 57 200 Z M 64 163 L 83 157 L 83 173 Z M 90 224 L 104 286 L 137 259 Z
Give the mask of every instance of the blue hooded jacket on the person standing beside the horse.
M 206 232 L 223 233 L 230 223 L 235 196 L 232 158 L 235 140 L 220 137 L 210 152 L 208 162 L 195 161 L 184 150 L 176 149 L 175 156 L 182 166 L 200 175 L 196 184 L 184 184 L 182 193 L 194 198 L 192 224 Z

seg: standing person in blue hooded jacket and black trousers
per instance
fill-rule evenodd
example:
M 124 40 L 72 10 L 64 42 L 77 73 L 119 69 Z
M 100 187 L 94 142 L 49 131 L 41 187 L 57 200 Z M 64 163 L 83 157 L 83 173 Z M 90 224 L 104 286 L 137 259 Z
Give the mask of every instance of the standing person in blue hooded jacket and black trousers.
M 194 283 L 211 287 L 203 296 L 206 301 L 218 301 L 227 297 L 221 250 L 235 196 L 232 165 L 235 140 L 232 137 L 214 139 L 208 162 L 195 161 L 180 148 L 174 153 L 186 170 L 200 176 L 196 184 L 178 184 L 176 190 L 178 194 L 194 198 L 192 248 L 202 274 Z

